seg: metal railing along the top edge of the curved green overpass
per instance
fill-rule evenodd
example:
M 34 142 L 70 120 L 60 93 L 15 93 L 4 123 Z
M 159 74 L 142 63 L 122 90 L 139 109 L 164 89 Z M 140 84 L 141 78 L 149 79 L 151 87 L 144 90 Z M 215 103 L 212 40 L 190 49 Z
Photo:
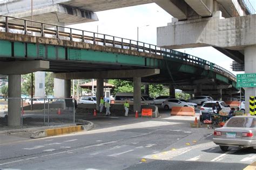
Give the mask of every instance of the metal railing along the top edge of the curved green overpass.
M 228 70 L 204 59 L 200 59 L 197 56 L 175 51 L 173 49 L 161 48 L 157 47 L 156 45 L 148 44 L 141 41 L 126 39 L 122 37 L 115 37 L 108 34 L 73 29 L 60 25 L 42 23 L 34 20 L 2 15 L 0 15 L 0 17 L 2 18 L 2 20 L 4 20 L 4 22 L 0 22 L 0 28 L 2 27 L 2 31 L 5 32 L 30 34 L 32 36 L 86 42 L 90 44 L 111 46 L 139 52 L 157 54 L 164 56 L 165 59 L 176 59 L 181 62 L 187 62 L 192 65 L 197 65 L 207 70 L 214 70 L 215 72 L 225 75 L 230 79 L 236 81 L 235 75 L 233 75 Z

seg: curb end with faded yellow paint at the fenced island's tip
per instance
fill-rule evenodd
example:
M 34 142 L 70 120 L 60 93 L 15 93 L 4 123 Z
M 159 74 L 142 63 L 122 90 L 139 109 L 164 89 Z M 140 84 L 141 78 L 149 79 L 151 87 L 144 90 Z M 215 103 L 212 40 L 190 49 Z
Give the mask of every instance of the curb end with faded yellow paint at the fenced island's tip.
M 50 136 L 58 136 L 61 134 L 69 134 L 73 132 L 79 132 L 79 131 L 89 131 L 93 128 L 94 124 L 90 121 L 85 121 L 82 119 L 76 119 L 77 122 L 82 123 L 82 125 L 73 125 L 68 127 L 62 127 L 62 128 L 56 128 L 53 127 L 52 129 L 45 129 L 45 130 L 39 130 L 36 132 L 33 132 L 31 134 L 30 138 L 37 139 L 37 138 L 44 138 L 44 137 L 50 137 Z

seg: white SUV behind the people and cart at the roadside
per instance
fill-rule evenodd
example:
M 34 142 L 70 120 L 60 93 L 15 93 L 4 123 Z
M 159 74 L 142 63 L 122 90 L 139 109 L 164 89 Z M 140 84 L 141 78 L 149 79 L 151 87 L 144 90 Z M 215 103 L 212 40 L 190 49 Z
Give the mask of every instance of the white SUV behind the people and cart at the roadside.
M 227 105 L 224 101 L 209 101 L 209 102 L 205 102 L 201 108 L 200 108 L 200 121 L 202 119 L 202 110 L 204 111 L 208 111 L 210 113 L 213 113 L 213 110 L 212 110 L 212 107 L 213 105 L 216 104 L 216 102 L 219 102 L 219 105 L 220 105 L 220 108 L 221 108 L 221 111 L 224 111 L 224 112 L 230 112 L 230 105 Z

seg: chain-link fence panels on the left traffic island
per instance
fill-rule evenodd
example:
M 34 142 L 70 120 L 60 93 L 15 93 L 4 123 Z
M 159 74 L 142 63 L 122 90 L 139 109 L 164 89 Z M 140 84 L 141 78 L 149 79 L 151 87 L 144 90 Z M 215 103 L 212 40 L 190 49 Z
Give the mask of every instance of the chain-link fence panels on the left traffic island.
M 75 123 L 73 98 L 2 98 L 0 131 Z

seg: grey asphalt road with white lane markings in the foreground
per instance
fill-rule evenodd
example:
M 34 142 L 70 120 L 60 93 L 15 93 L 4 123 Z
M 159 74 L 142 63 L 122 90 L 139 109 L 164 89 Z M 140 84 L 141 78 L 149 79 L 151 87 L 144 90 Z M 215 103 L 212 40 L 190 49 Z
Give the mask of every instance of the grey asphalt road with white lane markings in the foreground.
M 223 152 L 193 117 L 101 117 L 95 129 L 43 139 L 0 135 L 0 169 L 242 169 L 249 149 Z

